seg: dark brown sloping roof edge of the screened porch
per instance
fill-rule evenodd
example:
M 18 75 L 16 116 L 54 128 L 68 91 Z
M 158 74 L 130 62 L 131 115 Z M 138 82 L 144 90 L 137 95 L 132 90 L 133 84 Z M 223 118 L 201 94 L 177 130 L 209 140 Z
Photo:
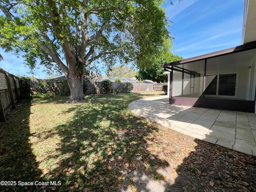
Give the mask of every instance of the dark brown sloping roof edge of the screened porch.
M 208 53 L 208 54 L 203 54 L 203 55 L 200 55 L 200 56 L 195 56 L 195 57 L 183 59 L 183 60 L 180 60 L 180 61 L 166 63 L 166 64 L 161 65 L 161 67 L 162 68 L 169 68 L 170 66 L 176 66 L 176 65 L 180 65 L 180 64 L 186 64 L 186 63 L 196 62 L 196 61 L 200 61 L 200 60 L 216 58 L 216 57 L 219 57 L 219 56 L 230 55 L 230 54 L 234 54 L 234 53 L 238 53 L 238 52 L 245 52 L 247 50 L 252 50 L 252 49 L 256 49 L 256 41 L 250 42 L 250 43 L 247 43 L 247 44 L 244 44 L 244 45 L 240 45 L 240 46 L 236 46 L 236 47 L 216 51 L 216 52 L 211 52 L 211 53 Z

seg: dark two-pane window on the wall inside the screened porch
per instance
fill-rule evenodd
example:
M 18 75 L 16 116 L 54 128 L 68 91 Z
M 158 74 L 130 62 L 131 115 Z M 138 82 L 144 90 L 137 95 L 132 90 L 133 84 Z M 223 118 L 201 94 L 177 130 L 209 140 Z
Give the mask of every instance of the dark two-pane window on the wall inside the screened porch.
M 235 96 L 237 74 L 218 74 L 205 90 L 206 95 Z

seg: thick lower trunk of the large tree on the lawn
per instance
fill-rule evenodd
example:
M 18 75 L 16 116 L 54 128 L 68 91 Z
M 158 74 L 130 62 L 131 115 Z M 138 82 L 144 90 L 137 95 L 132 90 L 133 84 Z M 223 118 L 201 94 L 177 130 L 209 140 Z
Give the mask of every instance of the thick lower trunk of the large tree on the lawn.
M 81 76 L 76 77 L 73 73 L 66 75 L 68 86 L 70 88 L 70 99 L 67 101 L 67 103 L 78 102 L 85 99 L 83 91 L 83 78 Z

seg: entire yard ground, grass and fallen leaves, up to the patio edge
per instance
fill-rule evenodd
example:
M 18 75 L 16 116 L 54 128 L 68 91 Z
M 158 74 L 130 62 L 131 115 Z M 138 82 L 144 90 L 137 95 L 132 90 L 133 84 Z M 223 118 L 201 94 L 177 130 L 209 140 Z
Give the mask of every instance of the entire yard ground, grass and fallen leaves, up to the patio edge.
M 256 191 L 256 158 L 128 109 L 133 100 L 160 95 L 22 100 L 0 123 L 0 180 L 9 181 L 0 191 L 154 191 L 149 183 L 158 191 Z

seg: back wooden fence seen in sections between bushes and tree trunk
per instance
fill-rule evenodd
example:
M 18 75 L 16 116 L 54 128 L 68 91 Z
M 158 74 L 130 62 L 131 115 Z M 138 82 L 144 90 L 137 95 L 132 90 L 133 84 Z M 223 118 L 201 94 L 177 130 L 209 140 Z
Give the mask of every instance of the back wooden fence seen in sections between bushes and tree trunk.
M 27 79 L 30 84 L 31 93 L 36 94 L 38 90 L 35 88 L 35 83 L 37 82 L 51 82 L 54 86 L 56 94 L 69 94 L 70 90 L 68 88 L 68 83 L 66 80 L 46 80 L 46 79 Z M 104 90 L 100 86 L 100 82 L 84 82 L 87 84 L 87 90 L 84 94 L 104 94 Z M 120 90 L 120 92 L 125 92 L 123 90 L 124 83 L 113 82 L 112 89 Z M 152 84 L 152 83 L 133 83 L 133 89 L 131 92 L 144 92 L 144 91 L 162 91 L 164 84 Z

